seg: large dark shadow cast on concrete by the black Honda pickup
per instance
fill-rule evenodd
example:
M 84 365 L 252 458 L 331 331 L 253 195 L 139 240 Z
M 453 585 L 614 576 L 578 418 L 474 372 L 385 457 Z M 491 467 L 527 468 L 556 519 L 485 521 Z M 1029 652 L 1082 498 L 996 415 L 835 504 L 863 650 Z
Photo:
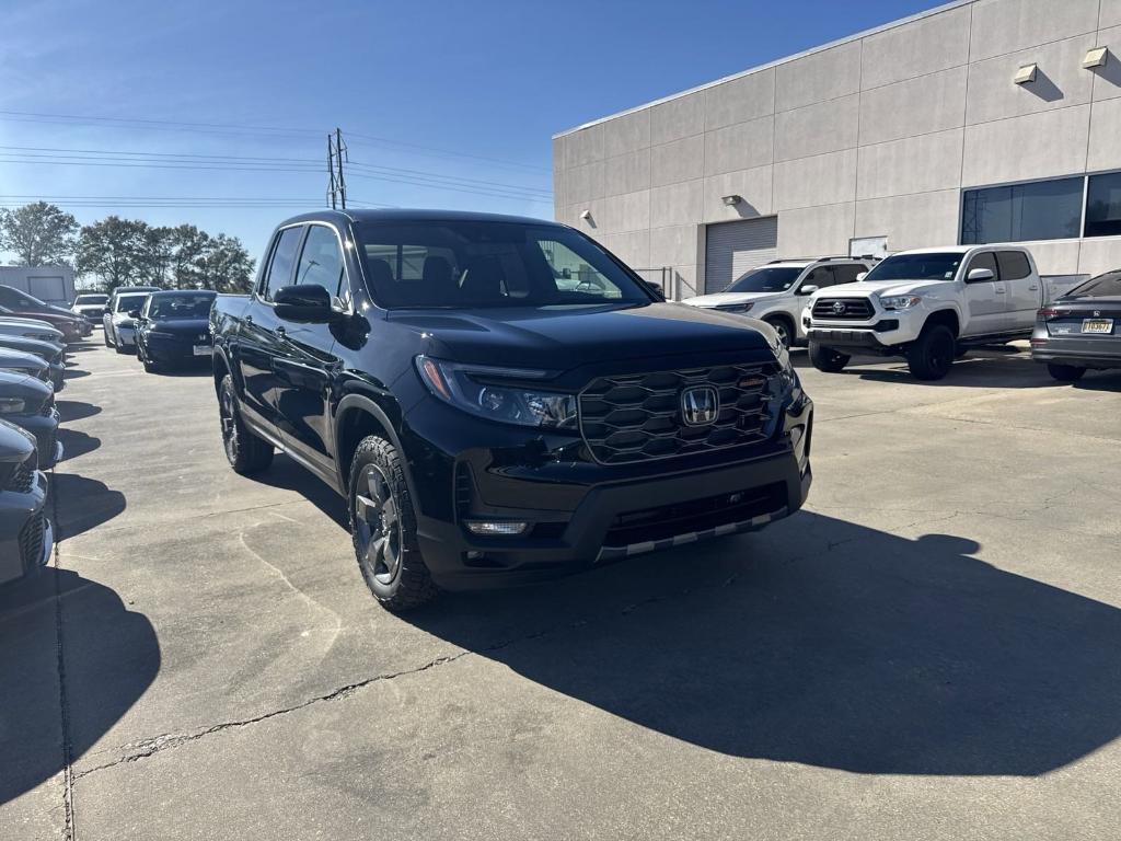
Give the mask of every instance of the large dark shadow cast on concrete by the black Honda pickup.
M 447 597 L 406 618 L 731 756 L 859 774 L 1046 774 L 1121 733 L 1121 611 L 979 551 L 802 512 L 758 535 L 547 588 Z M 620 591 L 645 595 L 620 606 Z

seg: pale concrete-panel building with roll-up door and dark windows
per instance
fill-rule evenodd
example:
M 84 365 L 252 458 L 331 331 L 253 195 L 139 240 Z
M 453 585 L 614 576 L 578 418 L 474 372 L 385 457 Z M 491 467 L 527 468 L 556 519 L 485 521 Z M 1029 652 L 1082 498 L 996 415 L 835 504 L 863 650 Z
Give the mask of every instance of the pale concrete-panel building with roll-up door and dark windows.
M 564 131 L 553 159 L 556 218 L 682 295 L 965 242 L 1118 267 L 1121 0 L 960 0 Z

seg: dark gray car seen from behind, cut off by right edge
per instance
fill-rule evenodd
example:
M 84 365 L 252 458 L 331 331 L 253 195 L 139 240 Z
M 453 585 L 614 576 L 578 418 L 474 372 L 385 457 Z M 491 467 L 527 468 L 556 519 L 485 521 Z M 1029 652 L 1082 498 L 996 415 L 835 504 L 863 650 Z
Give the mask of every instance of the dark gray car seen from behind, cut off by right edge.
M 1031 358 L 1064 382 L 1087 368 L 1121 368 L 1121 269 L 1092 277 L 1040 309 Z

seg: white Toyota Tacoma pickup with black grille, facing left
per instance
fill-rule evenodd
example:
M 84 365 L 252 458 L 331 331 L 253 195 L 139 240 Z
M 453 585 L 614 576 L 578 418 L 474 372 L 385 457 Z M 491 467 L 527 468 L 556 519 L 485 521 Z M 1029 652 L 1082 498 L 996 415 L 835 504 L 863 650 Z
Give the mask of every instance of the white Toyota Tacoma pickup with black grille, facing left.
M 970 346 L 1028 339 L 1043 298 L 1028 249 L 952 246 L 900 251 L 858 283 L 814 293 L 802 323 L 818 370 L 873 353 L 905 357 L 915 377 L 937 380 Z

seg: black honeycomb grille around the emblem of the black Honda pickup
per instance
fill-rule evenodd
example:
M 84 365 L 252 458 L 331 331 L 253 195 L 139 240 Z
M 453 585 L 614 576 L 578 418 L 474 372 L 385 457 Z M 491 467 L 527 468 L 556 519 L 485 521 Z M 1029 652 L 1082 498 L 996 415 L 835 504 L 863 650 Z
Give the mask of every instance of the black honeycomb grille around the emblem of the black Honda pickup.
M 580 394 L 580 428 L 601 464 L 692 455 L 766 440 L 777 410 L 770 399 L 775 363 L 691 368 L 600 377 Z M 692 426 L 682 395 L 708 386 L 719 395 L 716 417 Z

